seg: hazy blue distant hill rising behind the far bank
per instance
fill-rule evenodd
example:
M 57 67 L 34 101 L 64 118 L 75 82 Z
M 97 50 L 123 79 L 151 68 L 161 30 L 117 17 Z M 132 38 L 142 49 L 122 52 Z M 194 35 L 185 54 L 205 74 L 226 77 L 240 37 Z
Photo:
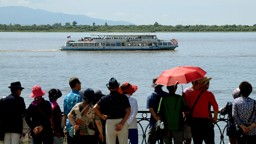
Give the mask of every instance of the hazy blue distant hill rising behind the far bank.
M 92 25 L 93 22 L 95 22 L 96 25 L 104 25 L 105 22 L 107 22 L 108 25 L 135 25 L 126 21 L 102 20 L 98 18 L 91 18 L 86 15 L 49 12 L 23 6 L 0 7 L 0 13 L 0 24 L 6 25 L 12 23 L 20 24 L 21 26 L 31 26 L 33 24 L 38 26 L 41 24 L 53 25 L 55 23 L 61 23 L 62 26 L 65 26 L 66 22 L 69 22 L 72 25 L 73 21 L 76 21 L 77 25 Z

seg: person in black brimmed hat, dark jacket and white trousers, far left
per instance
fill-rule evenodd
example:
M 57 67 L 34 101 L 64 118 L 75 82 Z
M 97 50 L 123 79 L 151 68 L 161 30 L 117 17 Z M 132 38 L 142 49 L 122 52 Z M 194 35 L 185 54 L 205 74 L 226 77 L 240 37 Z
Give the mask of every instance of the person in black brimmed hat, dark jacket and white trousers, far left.
M 20 97 L 23 87 L 20 82 L 13 82 L 11 86 L 11 94 L 0 99 L 0 115 L 1 130 L 5 133 L 5 143 L 16 144 L 20 141 L 20 134 L 23 129 L 23 115 L 26 114 L 26 105 L 24 99 Z

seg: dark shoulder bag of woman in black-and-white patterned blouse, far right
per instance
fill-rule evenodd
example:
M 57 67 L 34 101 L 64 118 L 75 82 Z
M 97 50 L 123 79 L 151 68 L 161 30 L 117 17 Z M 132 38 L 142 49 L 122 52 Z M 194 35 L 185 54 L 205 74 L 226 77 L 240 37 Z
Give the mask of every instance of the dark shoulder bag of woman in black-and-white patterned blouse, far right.
M 255 106 L 255 100 L 254 100 L 253 111 L 252 111 L 252 113 L 251 113 L 251 116 L 249 117 L 248 122 L 251 121 L 251 118 L 252 118 L 252 116 L 253 116 L 255 107 L 256 107 L 256 106 Z M 231 135 L 232 138 L 238 139 L 238 138 L 243 137 L 243 136 L 245 136 L 245 135 L 246 135 L 246 134 L 243 132 L 243 129 L 242 129 L 240 126 L 238 126 L 238 125 L 233 125 L 233 126 L 232 126 L 232 135 Z

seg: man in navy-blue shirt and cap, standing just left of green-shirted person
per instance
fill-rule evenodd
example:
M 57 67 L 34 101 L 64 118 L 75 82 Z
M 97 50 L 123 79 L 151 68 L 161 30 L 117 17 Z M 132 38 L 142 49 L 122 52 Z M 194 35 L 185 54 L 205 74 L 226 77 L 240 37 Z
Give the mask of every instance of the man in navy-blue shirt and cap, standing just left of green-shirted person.
M 162 85 L 155 84 L 159 76 L 153 78 L 153 82 L 150 85 L 154 87 L 155 91 L 148 95 L 147 98 L 147 108 L 149 109 L 151 116 L 149 121 L 149 130 L 148 130 L 148 142 L 147 144 L 155 144 L 156 141 L 160 139 L 160 144 L 163 143 L 163 137 L 156 134 L 155 124 L 158 120 L 157 111 L 160 103 L 160 99 L 167 95 L 168 93 L 162 90 Z

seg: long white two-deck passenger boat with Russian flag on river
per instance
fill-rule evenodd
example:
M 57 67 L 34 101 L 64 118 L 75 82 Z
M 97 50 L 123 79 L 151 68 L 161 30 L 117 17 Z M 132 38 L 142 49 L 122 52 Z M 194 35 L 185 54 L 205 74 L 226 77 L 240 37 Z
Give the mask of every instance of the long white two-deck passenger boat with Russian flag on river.
M 156 34 L 142 35 L 91 35 L 78 41 L 65 41 L 61 51 L 131 51 L 131 50 L 174 50 L 175 39 L 158 39 Z

